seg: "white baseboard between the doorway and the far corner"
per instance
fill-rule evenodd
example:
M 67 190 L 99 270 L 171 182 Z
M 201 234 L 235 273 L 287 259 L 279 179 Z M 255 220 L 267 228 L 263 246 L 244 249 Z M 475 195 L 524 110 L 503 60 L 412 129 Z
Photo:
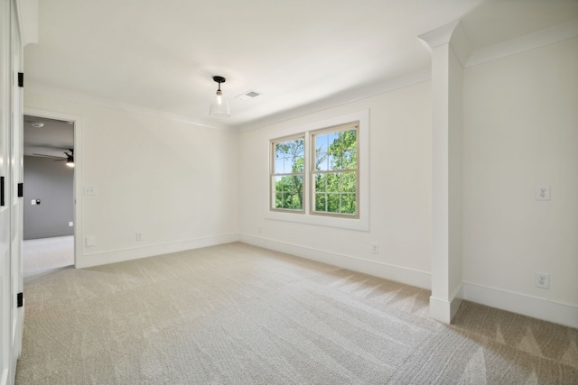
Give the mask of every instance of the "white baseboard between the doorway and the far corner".
M 122 261 L 138 260 L 141 258 L 154 257 L 155 255 L 170 252 L 184 252 L 201 247 L 216 246 L 218 244 L 238 242 L 238 234 L 215 235 L 206 238 L 197 238 L 189 241 L 174 243 L 151 244 L 134 249 L 115 250 L 112 252 L 97 252 L 77 256 L 76 268 L 89 268 Z

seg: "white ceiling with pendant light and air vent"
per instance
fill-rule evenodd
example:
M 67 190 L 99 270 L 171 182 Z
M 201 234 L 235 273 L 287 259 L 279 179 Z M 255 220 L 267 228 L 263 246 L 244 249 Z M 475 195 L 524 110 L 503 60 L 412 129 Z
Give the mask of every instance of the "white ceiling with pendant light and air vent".
M 244 128 L 429 78 L 417 36 L 458 19 L 478 50 L 576 18 L 578 0 L 42 0 L 24 70 L 31 89 Z

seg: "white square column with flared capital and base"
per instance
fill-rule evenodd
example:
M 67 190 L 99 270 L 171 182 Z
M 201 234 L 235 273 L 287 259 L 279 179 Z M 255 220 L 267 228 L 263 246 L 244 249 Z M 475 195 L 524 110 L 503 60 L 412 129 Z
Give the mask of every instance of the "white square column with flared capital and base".
M 449 324 L 461 304 L 461 24 L 420 36 L 432 50 L 432 297 L 430 316 Z M 458 52 L 460 55 L 457 55 Z

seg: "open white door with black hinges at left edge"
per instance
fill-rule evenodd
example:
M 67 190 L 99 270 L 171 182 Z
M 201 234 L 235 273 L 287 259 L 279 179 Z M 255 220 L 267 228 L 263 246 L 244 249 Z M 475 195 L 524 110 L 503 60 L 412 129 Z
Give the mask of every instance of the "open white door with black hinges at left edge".
M 0 385 L 14 384 L 22 349 L 23 43 L 16 0 L 0 0 Z

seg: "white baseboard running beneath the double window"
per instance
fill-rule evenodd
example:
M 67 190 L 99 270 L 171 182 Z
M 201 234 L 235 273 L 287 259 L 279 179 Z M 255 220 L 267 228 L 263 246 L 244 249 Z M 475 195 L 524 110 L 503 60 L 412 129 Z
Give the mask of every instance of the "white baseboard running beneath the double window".
M 254 246 L 275 250 L 275 252 L 286 252 L 308 260 L 327 263 L 343 269 L 359 271 L 386 280 L 395 280 L 418 288 L 432 288 L 431 274 L 425 271 L 407 269 L 378 261 L 368 261 L 350 255 L 327 252 L 294 243 L 284 243 L 249 234 L 239 234 L 238 240 Z

